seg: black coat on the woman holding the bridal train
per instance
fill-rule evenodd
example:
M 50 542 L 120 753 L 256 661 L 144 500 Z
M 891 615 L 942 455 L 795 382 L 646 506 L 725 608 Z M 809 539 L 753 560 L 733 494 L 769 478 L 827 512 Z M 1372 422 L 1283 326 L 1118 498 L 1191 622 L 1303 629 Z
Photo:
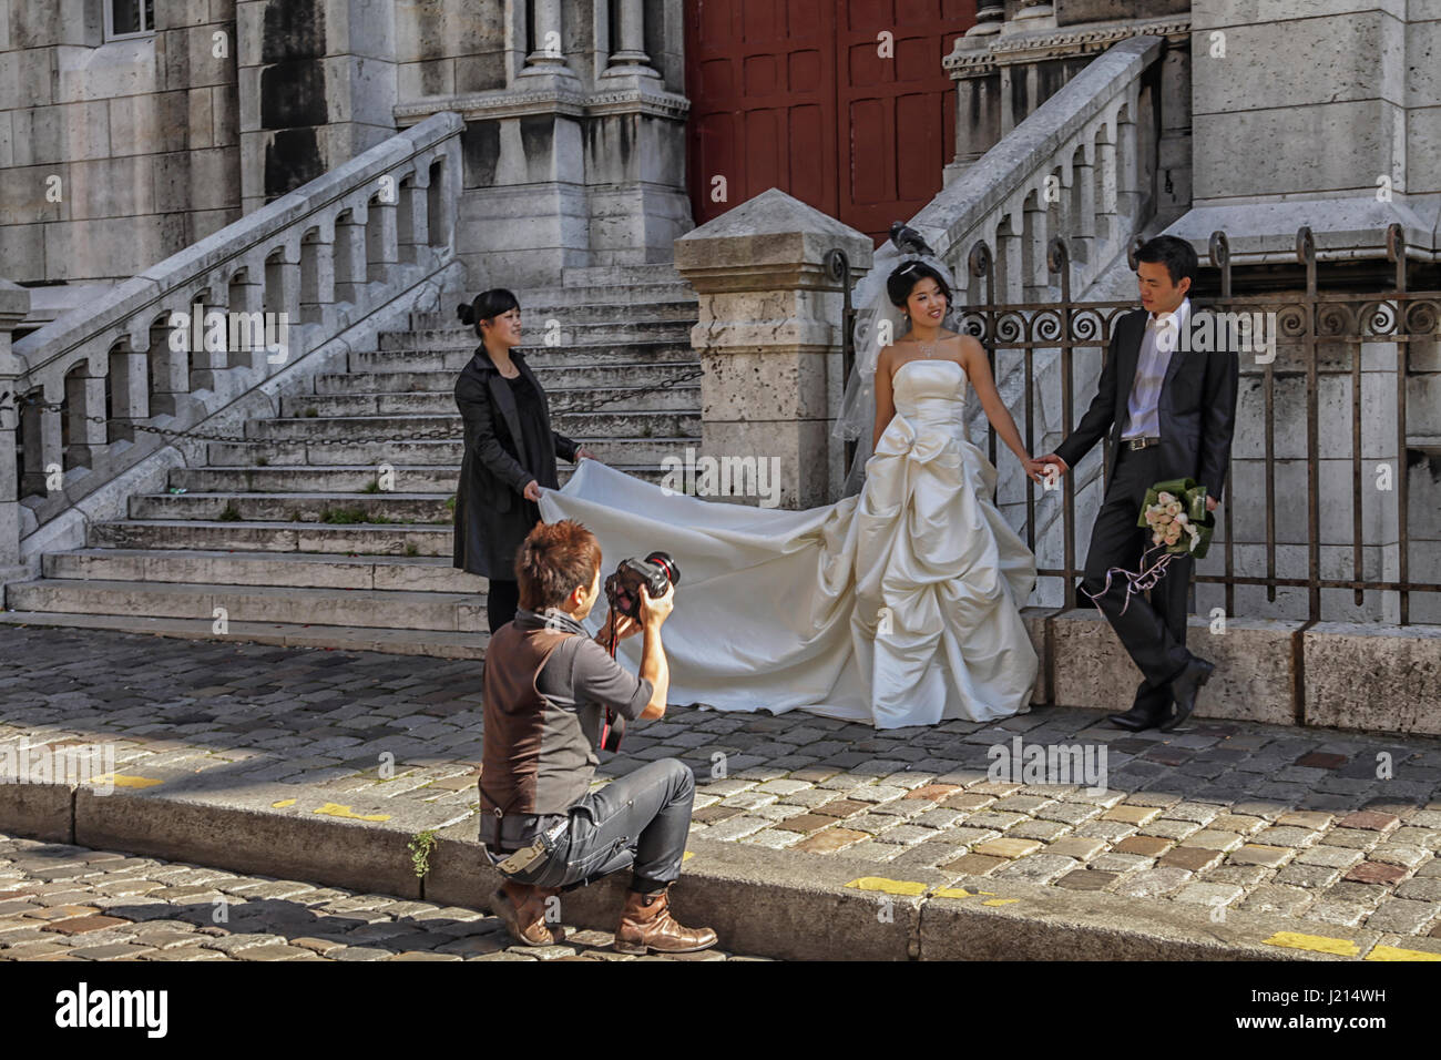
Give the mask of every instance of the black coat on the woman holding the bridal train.
M 540 522 L 540 506 L 526 500 L 532 479 L 558 489 L 555 457 L 575 461 L 578 444 L 550 430 L 550 408 L 520 350 L 510 350 L 540 401 L 540 423 L 522 420 L 510 382 L 484 343 L 455 381 L 455 405 L 465 421 L 465 456 L 455 492 L 454 564 L 471 574 L 514 580 L 516 549 Z

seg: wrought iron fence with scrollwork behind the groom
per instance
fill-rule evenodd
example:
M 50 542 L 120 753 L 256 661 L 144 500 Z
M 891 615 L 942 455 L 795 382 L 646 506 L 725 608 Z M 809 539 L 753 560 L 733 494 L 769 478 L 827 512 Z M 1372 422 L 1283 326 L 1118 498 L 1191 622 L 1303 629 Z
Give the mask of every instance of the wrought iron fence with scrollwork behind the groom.
M 1438 317 L 1441 317 L 1441 291 L 1412 291 L 1408 287 L 1408 267 L 1404 237 L 1399 225 L 1393 225 L 1388 235 L 1391 261 L 1395 264 L 1395 280 L 1389 290 L 1327 290 L 1319 288 L 1316 244 L 1311 232 L 1303 228 L 1297 234 L 1297 262 L 1304 268 L 1304 291 L 1287 293 L 1252 293 L 1238 296 L 1233 290 L 1231 258 L 1225 234 L 1216 232 L 1210 239 L 1210 265 L 1219 273 L 1219 294 L 1215 297 L 1193 297 L 1195 309 L 1209 309 L 1216 313 L 1231 314 L 1268 314 L 1274 320 L 1274 339 L 1277 349 L 1268 359 L 1259 356 L 1242 356 L 1242 395 L 1241 402 L 1248 405 L 1245 421 L 1259 420 L 1261 438 L 1246 437 L 1241 446 L 1242 456 L 1233 449 L 1231 482 L 1226 485 L 1225 500 L 1218 512 L 1218 544 L 1221 545 L 1219 567 L 1215 561 L 1216 548 L 1212 555 L 1197 565 L 1196 581 L 1200 584 L 1219 584 L 1225 591 L 1225 611 L 1235 616 L 1236 590 L 1245 586 L 1264 587 L 1265 597 L 1275 603 L 1277 591 L 1282 588 L 1304 588 L 1307 591 L 1306 617 L 1310 622 L 1323 619 L 1323 591 L 1350 590 L 1353 600 L 1360 607 L 1368 591 L 1393 593 L 1391 611 L 1399 624 L 1411 622 L 1411 596 L 1415 593 L 1437 594 L 1428 597 L 1431 601 L 1441 601 L 1441 511 L 1427 512 L 1411 511 L 1409 479 L 1408 479 L 1408 434 L 1406 434 L 1406 402 L 1408 379 L 1414 378 L 1417 353 L 1422 343 L 1437 343 Z M 1134 267 L 1134 248 L 1131 264 Z M 983 304 L 961 309 L 957 319 L 957 329 L 974 335 L 986 346 L 996 369 L 997 355 L 1014 353 L 1020 358 L 1019 368 L 1023 374 L 1023 408 L 1019 410 L 1017 427 L 1026 440 L 1030 451 L 1048 451 L 1043 438 L 1038 437 L 1042 424 L 1038 421 L 1038 376 L 1045 369 L 1050 385 L 1056 371 L 1059 371 L 1061 391 L 1061 423 L 1052 425 L 1052 431 L 1059 430 L 1058 437 L 1068 436 L 1075 425 L 1076 412 L 1076 379 L 1075 356 L 1078 350 L 1098 349 L 1101 356 L 1110 345 L 1115 322 L 1125 313 L 1137 309 L 1134 301 L 1091 301 L 1078 303 L 1071 299 L 1069 284 L 1069 255 L 1063 239 L 1050 241 L 1048 265 L 1052 274 L 1058 275 L 1059 300 L 1053 303 L 997 303 L 996 301 L 996 261 L 990 248 L 984 242 L 977 242 L 968 257 L 971 275 L 981 281 L 986 301 Z M 849 335 L 849 326 L 847 326 Z M 1388 355 L 1383 349 L 1366 350 L 1366 346 L 1391 348 L 1389 369 L 1393 379 L 1389 381 L 1389 395 L 1380 398 L 1378 387 L 1385 381 L 1388 372 Z M 1363 362 L 1372 361 L 1379 365 L 1379 371 L 1372 368 L 1363 372 Z M 1437 365 L 1441 369 L 1441 361 Z M 1368 385 L 1365 375 L 1376 376 Z M 1321 438 L 1321 391 L 1337 389 L 1330 387 L 1330 381 L 1349 379 L 1349 385 L 1340 389 L 1349 391 L 1349 443 L 1329 433 L 1323 444 Z M 1293 381 L 1304 381 L 1304 414 L 1300 417 L 1278 417 L 1278 392 L 1287 394 L 1294 389 Z M 1366 394 L 1372 394 L 1372 410 L 1366 414 Z M 1370 420 L 1368 420 L 1368 415 Z M 1238 408 L 1236 443 L 1242 443 L 1242 410 Z M 1333 414 L 1327 418 L 1334 418 Z M 1378 423 L 1379 420 L 1379 423 Z M 1290 444 L 1294 440 L 1293 431 L 1304 428 L 1304 449 Z M 1249 428 L 1246 428 L 1249 431 Z M 1366 489 L 1366 464 L 1376 456 L 1376 440 L 1388 437 L 1395 444 L 1395 451 L 1386 456 L 1376 469 L 1380 477 L 1389 461 L 1391 479 L 1385 490 L 1373 489 L 1369 493 L 1386 492 L 1393 495 L 1393 505 L 1389 511 L 1385 505 L 1378 505 L 1376 498 Z M 1287 443 L 1287 451 L 1300 453 L 1306 463 L 1304 502 L 1306 502 L 1306 532 L 1304 542 L 1287 542 L 1278 536 L 1278 515 L 1288 515 L 1290 505 L 1298 503 L 1293 493 L 1278 495 L 1277 476 L 1284 463 L 1294 463 L 1297 457 L 1281 457 L 1278 454 L 1278 437 Z M 1391 441 L 1385 444 L 1391 444 Z M 1245 446 L 1257 446 L 1257 456 L 1248 456 Z M 1372 453 L 1366 453 L 1368 446 Z M 996 461 L 996 431 L 987 430 L 987 447 L 991 463 Z M 1105 467 L 1110 469 L 1112 454 L 1110 440 L 1105 441 Z M 1349 496 L 1323 498 L 1323 463 L 1350 463 Z M 1254 467 L 1251 464 L 1258 464 Z M 1236 483 L 1238 466 L 1245 467 L 1245 482 Z M 1259 483 L 1257 483 L 1259 477 Z M 1294 476 L 1293 476 L 1294 477 Z M 1334 477 L 1334 476 L 1330 476 Z M 1068 474 L 1061 483 L 1063 490 L 1061 499 L 1061 534 L 1062 565 L 1042 567 L 1042 577 L 1062 578 L 1065 603 L 1068 607 L 1076 606 L 1076 581 L 1081 570 L 1076 565 L 1076 476 Z M 1329 483 L 1330 487 L 1330 483 Z M 1441 492 L 1437 493 L 1441 496 Z M 1038 534 L 1038 500 L 1043 500 L 1043 490 L 1035 483 L 1026 483 L 1026 535 L 1027 544 L 1035 549 Z M 1368 500 L 1370 503 L 1368 505 Z M 1330 513 L 1339 511 L 1344 502 L 1350 503 L 1350 535 L 1349 541 L 1334 545 L 1323 539 L 1324 534 L 1334 532 L 1337 519 L 1323 521 L 1323 509 Z M 1245 513 L 1248 524 L 1257 524 L 1254 513 L 1259 506 L 1259 524 L 1264 532 L 1254 532 L 1244 536 L 1252 539 L 1238 541 L 1236 524 L 1238 512 Z M 1435 505 L 1441 506 L 1441 505 Z M 1368 515 L 1372 521 L 1383 525 L 1393 522 L 1395 539 L 1376 539 L 1378 532 L 1368 534 Z M 1415 519 L 1414 516 L 1421 516 Z M 1411 577 L 1412 552 L 1412 522 L 1424 522 L 1432 528 L 1434 536 L 1427 538 L 1431 548 L 1429 577 L 1431 580 L 1415 580 Z M 1323 531 L 1323 522 L 1326 529 Z M 1370 538 L 1370 539 L 1368 539 Z M 1435 544 L 1432 544 L 1435 542 Z M 1278 549 L 1295 548 L 1304 544 L 1306 571 L 1278 570 Z M 1264 551 L 1264 560 L 1238 567 L 1238 548 L 1255 552 Z M 1323 562 L 1323 549 L 1334 552 L 1349 548 L 1350 561 L 1339 564 L 1339 573 L 1327 574 L 1326 568 L 1337 567 L 1336 562 Z M 1373 549 L 1368 571 L 1368 549 Z M 1294 564 L 1291 564 L 1294 565 Z M 1245 567 L 1242 570 L 1241 567 Z M 1388 570 L 1393 577 L 1388 577 Z M 1375 601 L 1373 601 L 1375 603 Z M 1388 604 L 1382 604 L 1383 607 Z M 1334 610 L 1334 607 L 1333 607 Z M 1441 611 L 1437 611 L 1441 614 Z M 1344 616 L 1330 616 L 1344 617 Z M 1391 616 L 1388 616 L 1391 617 Z M 1441 617 L 1431 619 L 1441 622 Z

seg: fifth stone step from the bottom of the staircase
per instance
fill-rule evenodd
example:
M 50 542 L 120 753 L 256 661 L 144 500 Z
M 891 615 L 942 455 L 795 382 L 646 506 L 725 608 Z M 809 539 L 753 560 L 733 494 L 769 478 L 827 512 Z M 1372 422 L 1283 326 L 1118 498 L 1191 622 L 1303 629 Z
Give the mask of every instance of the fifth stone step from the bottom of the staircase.
M 448 493 L 143 493 L 130 498 L 131 519 L 199 519 L 220 522 L 455 524 Z

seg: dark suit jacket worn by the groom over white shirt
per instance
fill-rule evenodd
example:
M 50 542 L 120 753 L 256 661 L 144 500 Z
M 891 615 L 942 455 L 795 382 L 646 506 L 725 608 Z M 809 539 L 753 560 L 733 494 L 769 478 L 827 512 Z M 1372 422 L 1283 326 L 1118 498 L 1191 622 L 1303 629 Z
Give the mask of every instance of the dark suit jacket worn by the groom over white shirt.
M 1199 312 L 1205 310 L 1193 304 L 1192 320 Z M 1066 466 L 1075 469 L 1107 434 L 1112 446 L 1120 444 L 1121 433 L 1130 423 L 1131 385 L 1136 382 L 1147 316 L 1144 309 L 1138 309 L 1117 320 L 1095 398 L 1071 437 L 1056 447 L 1056 456 Z M 1218 330 L 1213 329 L 1213 333 Z M 1172 352 L 1157 407 L 1161 436 L 1159 482 L 1195 479 L 1209 496 L 1221 500 L 1231 466 L 1239 382 L 1241 365 L 1233 350 Z

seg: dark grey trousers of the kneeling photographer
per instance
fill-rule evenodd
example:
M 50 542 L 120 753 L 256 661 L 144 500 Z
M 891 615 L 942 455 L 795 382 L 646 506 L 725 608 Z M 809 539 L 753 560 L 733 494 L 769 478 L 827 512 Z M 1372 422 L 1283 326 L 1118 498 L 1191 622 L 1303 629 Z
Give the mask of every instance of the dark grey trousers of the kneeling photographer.
M 516 883 L 572 890 L 631 867 L 637 884 L 680 878 L 696 782 L 679 759 L 659 759 L 591 792 L 571 808 L 555 852 Z M 491 858 L 497 861 L 499 858 Z

